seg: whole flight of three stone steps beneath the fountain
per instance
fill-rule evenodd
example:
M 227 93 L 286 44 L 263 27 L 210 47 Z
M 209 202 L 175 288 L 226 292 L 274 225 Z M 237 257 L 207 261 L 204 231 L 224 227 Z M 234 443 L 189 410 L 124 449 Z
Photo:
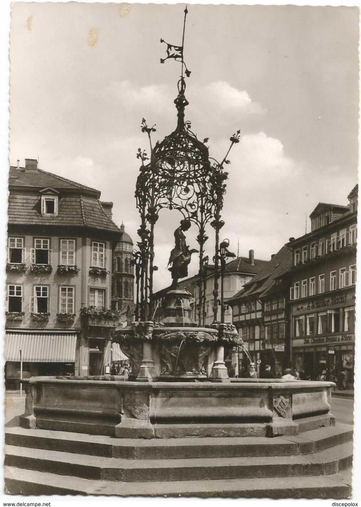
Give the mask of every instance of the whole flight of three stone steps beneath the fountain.
M 346 498 L 352 426 L 273 439 L 114 439 L 9 427 L 10 494 Z

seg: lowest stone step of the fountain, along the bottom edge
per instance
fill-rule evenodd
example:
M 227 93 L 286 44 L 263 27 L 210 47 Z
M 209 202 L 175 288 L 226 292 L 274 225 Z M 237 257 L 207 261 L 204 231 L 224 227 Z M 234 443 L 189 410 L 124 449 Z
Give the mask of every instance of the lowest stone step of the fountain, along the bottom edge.
M 347 498 L 351 469 L 329 476 L 214 481 L 110 482 L 5 467 L 6 491 L 21 495 L 196 496 L 223 498 Z

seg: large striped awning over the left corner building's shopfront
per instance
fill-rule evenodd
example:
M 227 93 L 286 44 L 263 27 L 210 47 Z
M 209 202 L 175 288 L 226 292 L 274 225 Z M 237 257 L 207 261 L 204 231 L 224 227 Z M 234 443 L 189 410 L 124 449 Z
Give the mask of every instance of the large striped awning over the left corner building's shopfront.
M 76 333 L 15 333 L 5 335 L 5 360 L 26 363 L 74 363 Z

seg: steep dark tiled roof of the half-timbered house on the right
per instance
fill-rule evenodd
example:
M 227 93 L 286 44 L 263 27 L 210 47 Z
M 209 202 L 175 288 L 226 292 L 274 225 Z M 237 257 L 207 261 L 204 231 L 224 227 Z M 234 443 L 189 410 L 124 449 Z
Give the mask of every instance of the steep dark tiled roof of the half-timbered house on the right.
M 227 303 L 235 303 L 235 300 L 244 296 L 257 295 L 261 298 L 272 292 L 275 288 L 275 279 L 287 273 L 292 267 L 292 251 L 284 245 L 270 261 L 264 262 L 267 262 L 266 266 Z

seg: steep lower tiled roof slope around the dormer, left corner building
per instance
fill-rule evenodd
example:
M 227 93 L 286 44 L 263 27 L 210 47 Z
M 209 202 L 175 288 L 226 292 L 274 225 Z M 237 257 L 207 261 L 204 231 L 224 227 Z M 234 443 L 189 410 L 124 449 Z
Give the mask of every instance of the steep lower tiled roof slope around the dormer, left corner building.
M 41 196 L 9 195 L 8 221 L 10 225 L 85 226 L 91 229 L 120 232 L 106 215 L 98 199 L 84 195 L 59 198 L 57 215 L 42 215 Z

